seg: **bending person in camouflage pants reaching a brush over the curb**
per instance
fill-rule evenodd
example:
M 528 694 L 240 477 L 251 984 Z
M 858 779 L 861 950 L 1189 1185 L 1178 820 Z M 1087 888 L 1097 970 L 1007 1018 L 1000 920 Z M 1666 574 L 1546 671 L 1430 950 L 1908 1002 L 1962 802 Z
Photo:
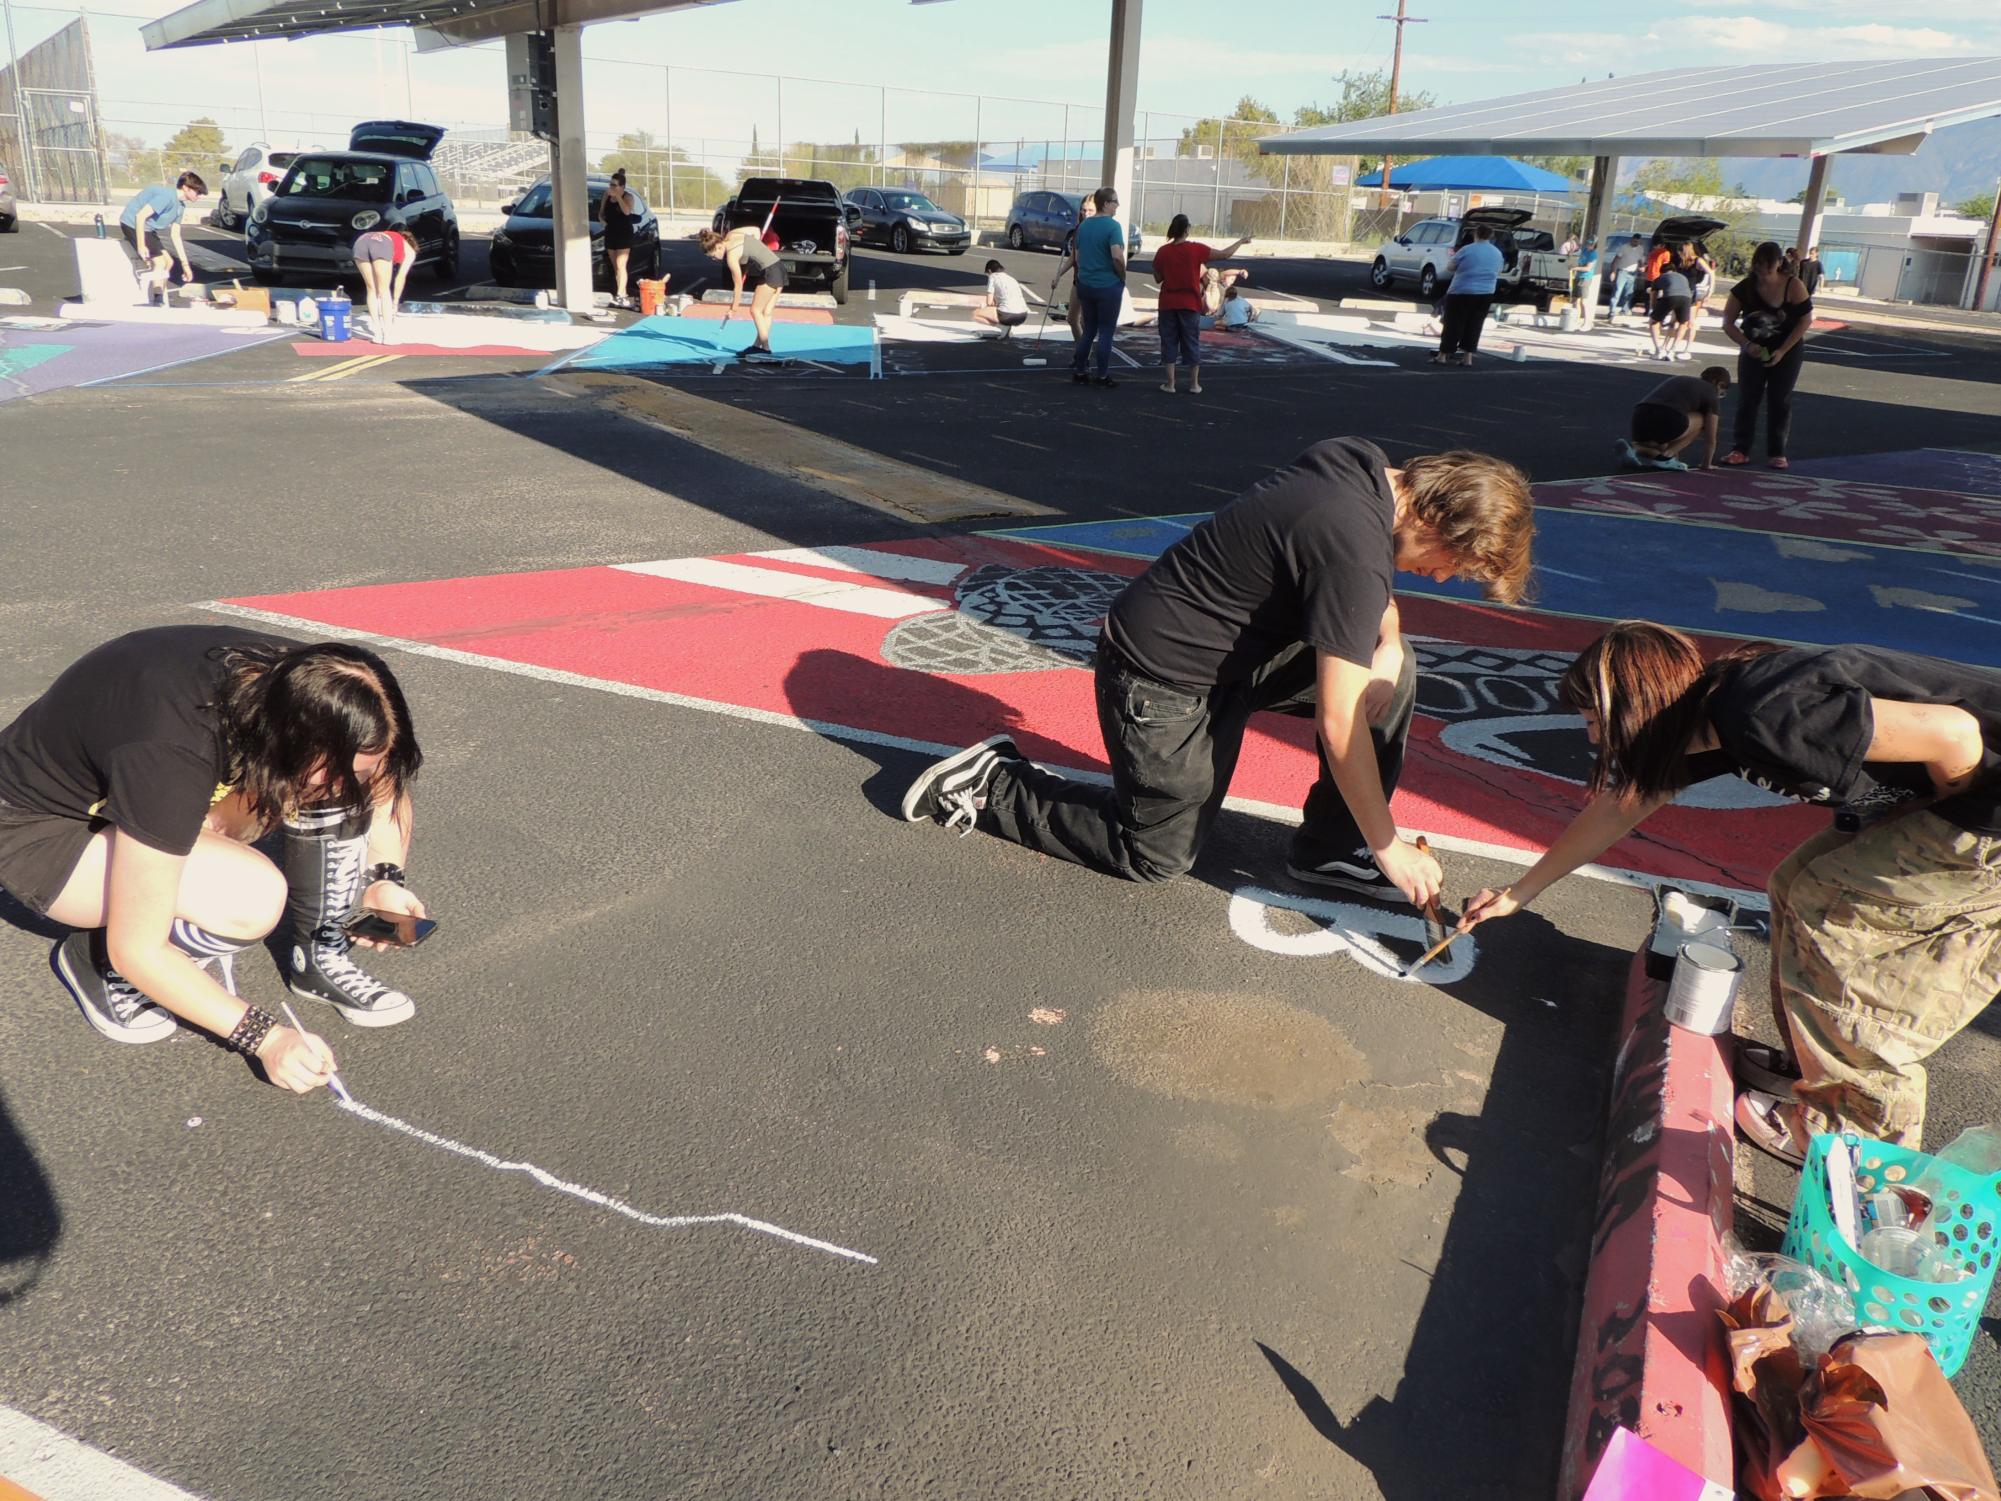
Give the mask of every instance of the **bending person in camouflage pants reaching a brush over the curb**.
M 1785 1053 L 1739 1045 L 1737 1129 L 1799 1163 L 1819 1131 L 1919 1147 L 1925 1067 L 2001 991 L 2001 674 L 1879 646 L 1739 646 L 1705 664 L 1627 620 L 1579 652 L 1565 700 L 1599 746 L 1593 799 L 1461 929 L 1507 917 L 1693 783 L 1725 773 L 1825 805 L 1771 875 Z M 1763 1057 L 1761 1057 L 1763 1055 Z

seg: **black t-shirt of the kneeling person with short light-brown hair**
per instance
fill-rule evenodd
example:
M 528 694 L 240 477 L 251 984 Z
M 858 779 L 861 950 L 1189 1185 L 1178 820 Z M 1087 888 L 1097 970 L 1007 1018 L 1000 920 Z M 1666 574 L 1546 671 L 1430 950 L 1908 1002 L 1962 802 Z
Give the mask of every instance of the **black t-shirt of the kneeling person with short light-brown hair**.
M 1373 442 L 1329 438 L 1135 578 L 1105 638 L 1161 682 L 1241 682 L 1301 640 L 1369 664 L 1397 568 L 1397 500 Z

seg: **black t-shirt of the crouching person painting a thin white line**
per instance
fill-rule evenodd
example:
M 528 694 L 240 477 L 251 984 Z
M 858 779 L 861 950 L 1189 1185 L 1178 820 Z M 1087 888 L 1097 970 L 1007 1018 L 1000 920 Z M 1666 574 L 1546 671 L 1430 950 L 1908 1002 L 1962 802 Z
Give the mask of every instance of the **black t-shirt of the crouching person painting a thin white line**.
M 0 730 L 0 803 L 104 819 L 186 855 L 228 781 L 222 652 L 296 646 L 242 626 L 158 626 L 78 656 Z

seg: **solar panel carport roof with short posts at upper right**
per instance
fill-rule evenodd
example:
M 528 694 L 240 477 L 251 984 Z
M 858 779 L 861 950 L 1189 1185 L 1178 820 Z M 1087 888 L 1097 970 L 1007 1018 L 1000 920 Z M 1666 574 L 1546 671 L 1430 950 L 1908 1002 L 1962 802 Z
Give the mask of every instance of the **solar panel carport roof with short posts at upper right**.
M 2001 114 L 2001 58 L 1671 68 L 1267 136 L 1293 156 L 1589 156 L 1603 238 L 1621 156 L 1809 156 L 1799 250 L 1819 234 L 1827 164 L 1909 156 L 1933 130 Z M 1989 246 L 1989 256 L 1993 246 Z

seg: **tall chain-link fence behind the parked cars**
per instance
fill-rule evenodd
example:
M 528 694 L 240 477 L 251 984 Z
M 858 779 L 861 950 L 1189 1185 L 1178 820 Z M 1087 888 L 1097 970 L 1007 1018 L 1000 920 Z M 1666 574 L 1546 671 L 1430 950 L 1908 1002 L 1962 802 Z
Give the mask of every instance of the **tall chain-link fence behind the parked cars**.
M 14 12 L 36 36 L 80 14 L 18 0 Z M 356 120 L 380 116 L 448 126 L 436 166 L 462 208 L 500 208 L 548 170 L 546 148 L 502 124 L 498 44 L 420 54 L 402 34 L 356 32 L 282 48 L 146 54 L 142 20 L 90 10 L 92 44 L 124 64 L 92 100 L 108 198 L 188 168 L 214 188 L 250 144 L 340 146 Z M 594 170 L 624 166 L 672 220 L 708 218 L 744 176 L 782 174 L 912 188 L 978 230 L 1005 232 L 1019 194 L 1091 192 L 1105 180 L 1105 112 L 1095 104 L 684 68 L 602 56 L 606 46 L 598 32 L 586 36 L 586 156 Z M 312 88 L 300 86 L 306 58 Z M 134 76 L 158 86 L 130 96 Z M 310 98 L 320 78 L 340 78 L 352 106 L 298 108 L 294 100 Z M 1209 238 L 1351 238 L 1357 162 L 1261 156 L 1257 138 L 1285 128 L 1271 120 L 1143 112 L 1135 128 L 1125 214 L 1143 232 L 1161 234 L 1187 214 Z

